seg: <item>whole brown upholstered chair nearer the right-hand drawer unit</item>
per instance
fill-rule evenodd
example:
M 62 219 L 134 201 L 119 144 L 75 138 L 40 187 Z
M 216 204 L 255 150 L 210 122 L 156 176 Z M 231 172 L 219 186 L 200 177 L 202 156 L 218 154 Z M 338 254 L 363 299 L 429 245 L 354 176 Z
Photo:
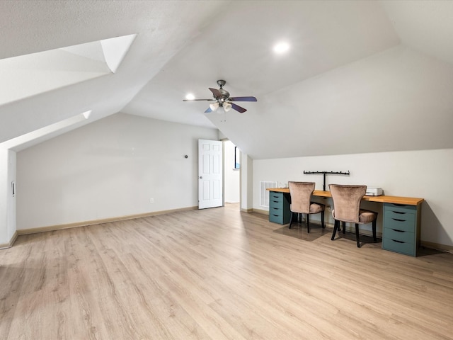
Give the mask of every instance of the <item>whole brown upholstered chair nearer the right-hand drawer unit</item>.
M 335 239 L 337 230 L 340 229 L 340 222 L 343 222 L 343 234 L 345 234 L 346 222 L 349 222 L 355 224 L 358 248 L 360 248 L 359 225 L 372 223 L 373 241 L 376 242 L 377 212 L 360 209 L 360 202 L 367 192 L 367 186 L 329 184 L 329 188 L 333 200 L 332 216 L 335 220 L 332 241 Z

